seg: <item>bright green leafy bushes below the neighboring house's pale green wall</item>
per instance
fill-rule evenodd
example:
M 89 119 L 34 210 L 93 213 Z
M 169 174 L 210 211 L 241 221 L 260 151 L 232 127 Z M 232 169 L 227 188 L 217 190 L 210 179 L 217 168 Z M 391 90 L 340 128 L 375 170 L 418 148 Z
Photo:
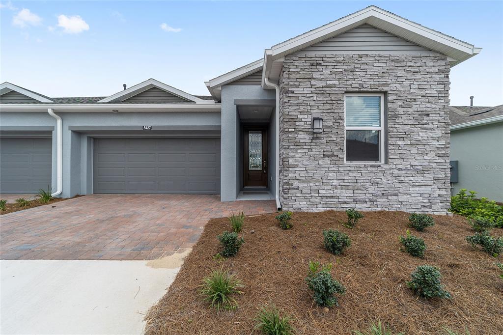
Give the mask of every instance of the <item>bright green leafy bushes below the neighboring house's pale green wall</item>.
M 461 189 L 458 194 L 451 197 L 450 212 L 466 216 L 468 218 L 480 217 L 490 220 L 495 227 L 503 228 L 503 206 L 489 201 L 487 198 L 475 198 L 477 192 Z

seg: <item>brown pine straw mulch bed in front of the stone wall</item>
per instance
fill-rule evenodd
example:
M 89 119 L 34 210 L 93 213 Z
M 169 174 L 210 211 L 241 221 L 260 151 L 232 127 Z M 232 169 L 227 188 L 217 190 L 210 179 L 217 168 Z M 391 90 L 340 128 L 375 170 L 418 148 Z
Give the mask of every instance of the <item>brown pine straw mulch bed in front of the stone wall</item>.
M 473 234 L 459 215 L 434 216 L 436 225 L 424 232 L 425 259 L 399 251 L 398 235 L 407 230 L 404 212 L 364 212 L 353 229 L 344 227 L 344 212 L 294 213 L 293 229 L 281 230 L 276 214 L 246 217 L 245 243 L 238 255 L 215 261 L 216 236 L 230 230 L 226 218 L 210 220 L 186 258 L 175 282 L 146 316 L 146 333 L 152 334 L 254 334 L 258 309 L 275 304 L 292 316 L 300 334 L 350 334 L 382 320 L 407 334 L 444 334 L 444 327 L 471 335 L 503 333 L 503 281 L 495 262 L 503 262 L 472 248 L 465 236 Z M 346 232 L 352 246 L 334 256 L 323 248 L 321 231 Z M 255 230 L 255 232 L 251 232 Z M 503 229 L 493 229 L 503 235 Z M 332 263 L 334 278 L 346 286 L 339 307 L 328 312 L 316 307 L 307 289 L 309 261 Z M 405 282 L 418 265 L 440 268 L 452 299 L 416 298 Z M 245 285 L 236 296 L 239 307 L 217 313 L 199 296 L 198 285 L 212 270 L 229 269 Z

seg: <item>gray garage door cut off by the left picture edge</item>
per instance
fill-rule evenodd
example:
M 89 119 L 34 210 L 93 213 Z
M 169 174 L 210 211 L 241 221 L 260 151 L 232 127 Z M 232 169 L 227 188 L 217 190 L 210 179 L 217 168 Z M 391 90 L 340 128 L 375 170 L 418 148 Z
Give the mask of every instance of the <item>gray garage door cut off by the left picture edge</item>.
M 0 139 L 0 193 L 38 193 L 51 185 L 52 139 Z

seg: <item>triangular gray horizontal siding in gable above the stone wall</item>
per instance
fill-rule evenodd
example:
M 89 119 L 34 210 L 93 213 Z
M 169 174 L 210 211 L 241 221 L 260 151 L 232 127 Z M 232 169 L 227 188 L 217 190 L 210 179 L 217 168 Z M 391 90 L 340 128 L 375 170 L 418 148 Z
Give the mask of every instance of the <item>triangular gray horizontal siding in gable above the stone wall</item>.
M 362 25 L 297 52 L 297 54 L 344 53 L 437 54 L 370 25 Z

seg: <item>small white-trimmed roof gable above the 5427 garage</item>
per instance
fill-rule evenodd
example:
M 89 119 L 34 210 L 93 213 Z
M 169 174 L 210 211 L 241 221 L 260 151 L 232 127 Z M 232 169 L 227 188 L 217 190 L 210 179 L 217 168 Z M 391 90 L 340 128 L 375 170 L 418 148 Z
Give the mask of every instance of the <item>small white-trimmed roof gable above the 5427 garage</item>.
M 145 80 L 143 82 L 140 82 L 139 84 L 137 84 L 135 86 L 132 86 L 132 87 L 130 87 L 127 90 L 118 92 L 118 93 L 116 93 L 114 95 L 111 95 L 110 97 L 107 97 L 105 99 L 102 99 L 102 100 L 100 100 L 98 102 L 99 103 L 125 102 L 126 100 L 128 100 L 128 102 L 129 101 L 131 101 L 131 102 L 138 102 L 138 100 L 135 101 L 135 99 L 133 99 L 133 97 L 135 97 L 135 96 L 137 96 L 139 94 L 142 94 L 142 93 L 144 93 L 146 91 L 149 91 L 149 90 L 151 90 L 153 88 L 155 88 L 157 90 L 160 90 L 160 91 L 163 91 L 167 95 L 173 96 L 174 98 L 172 98 L 172 99 L 178 98 L 179 99 L 178 101 L 172 101 L 174 103 L 180 102 L 180 101 L 185 101 L 185 102 L 189 102 L 189 103 L 204 103 L 204 102 L 207 103 L 207 101 L 205 101 L 203 99 L 200 99 L 198 97 L 190 95 L 190 94 L 188 94 L 186 92 L 178 90 L 178 89 L 176 89 L 176 88 L 174 88 L 172 86 L 166 85 L 165 83 L 160 82 L 160 81 L 155 80 L 155 79 L 152 79 L 152 78 L 150 78 L 148 80 Z M 152 92 L 150 92 L 150 94 L 152 94 L 154 92 L 157 92 L 157 97 L 153 98 L 153 99 L 162 99 L 161 94 L 159 94 L 158 91 L 152 91 Z M 140 96 L 139 99 L 145 99 L 145 97 L 147 95 L 149 95 L 149 94 L 148 93 L 144 93 L 142 96 Z M 150 98 L 152 98 L 152 97 L 150 97 Z M 133 99 L 133 100 L 131 100 L 131 99 Z M 166 99 L 166 95 L 164 96 L 164 99 Z

